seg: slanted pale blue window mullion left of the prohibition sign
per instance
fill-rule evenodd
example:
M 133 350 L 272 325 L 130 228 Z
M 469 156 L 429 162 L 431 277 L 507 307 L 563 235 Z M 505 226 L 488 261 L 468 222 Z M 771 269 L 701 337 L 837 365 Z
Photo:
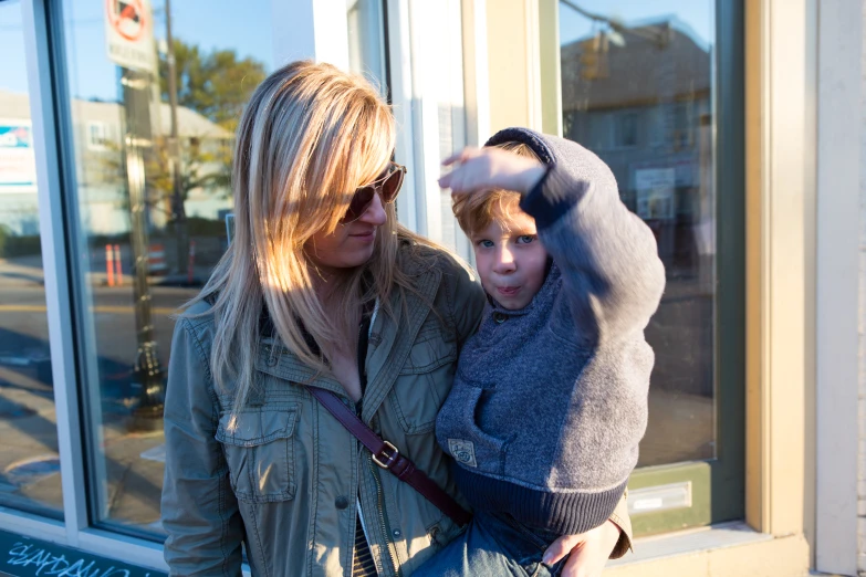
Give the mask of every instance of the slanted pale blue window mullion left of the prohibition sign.
M 51 370 L 58 420 L 66 544 L 77 546 L 87 526 L 85 460 L 76 386 L 70 262 L 63 216 L 60 118 L 52 75 L 48 0 L 22 0 L 24 53 L 36 160 L 40 242 L 45 279 Z

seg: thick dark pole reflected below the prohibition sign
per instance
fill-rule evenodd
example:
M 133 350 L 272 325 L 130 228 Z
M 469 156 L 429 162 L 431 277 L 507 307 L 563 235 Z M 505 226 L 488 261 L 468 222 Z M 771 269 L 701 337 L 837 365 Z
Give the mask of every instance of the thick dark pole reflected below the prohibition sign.
M 153 154 L 150 127 L 149 72 L 122 67 L 124 116 L 126 134 L 124 154 L 126 181 L 129 191 L 131 241 L 135 258 L 133 296 L 135 298 L 135 328 L 138 352 L 133 369 L 135 382 L 142 387 L 136 416 L 157 418 L 163 415 L 165 384 L 156 352 L 154 323 L 150 314 L 150 287 L 147 284 L 148 233 L 145 156 Z

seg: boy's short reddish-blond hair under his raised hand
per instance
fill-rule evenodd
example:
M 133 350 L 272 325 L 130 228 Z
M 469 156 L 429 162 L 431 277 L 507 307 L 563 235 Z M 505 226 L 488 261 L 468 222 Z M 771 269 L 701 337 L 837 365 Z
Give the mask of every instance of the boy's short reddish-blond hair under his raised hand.
M 523 143 L 501 143 L 495 145 L 510 153 L 540 160 L 539 156 Z M 476 195 L 460 195 L 453 200 L 451 210 L 463 232 L 471 237 L 488 228 L 491 222 L 509 230 L 509 220 L 520 210 L 520 193 L 512 190 L 491 189 Z

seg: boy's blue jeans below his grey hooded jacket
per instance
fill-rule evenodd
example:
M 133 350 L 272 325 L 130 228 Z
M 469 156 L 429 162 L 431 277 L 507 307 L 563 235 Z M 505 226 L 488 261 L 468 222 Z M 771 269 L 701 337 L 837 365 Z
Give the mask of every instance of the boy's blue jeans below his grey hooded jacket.
M 541 557 L 557 537 L 508 514 L 477 512 L 469 527 L 413 577 L 554 577 L 565 559 L 547 566 Z

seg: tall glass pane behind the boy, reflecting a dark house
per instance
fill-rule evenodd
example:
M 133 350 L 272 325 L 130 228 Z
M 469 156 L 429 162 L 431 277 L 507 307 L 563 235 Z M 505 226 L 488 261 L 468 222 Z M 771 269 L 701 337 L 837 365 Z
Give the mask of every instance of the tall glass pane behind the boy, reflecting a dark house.
M 711 0 L 560 2 L 563 135 L 611 166 L 667 269 L 640 465 L 716 454 L 714 13 Z

